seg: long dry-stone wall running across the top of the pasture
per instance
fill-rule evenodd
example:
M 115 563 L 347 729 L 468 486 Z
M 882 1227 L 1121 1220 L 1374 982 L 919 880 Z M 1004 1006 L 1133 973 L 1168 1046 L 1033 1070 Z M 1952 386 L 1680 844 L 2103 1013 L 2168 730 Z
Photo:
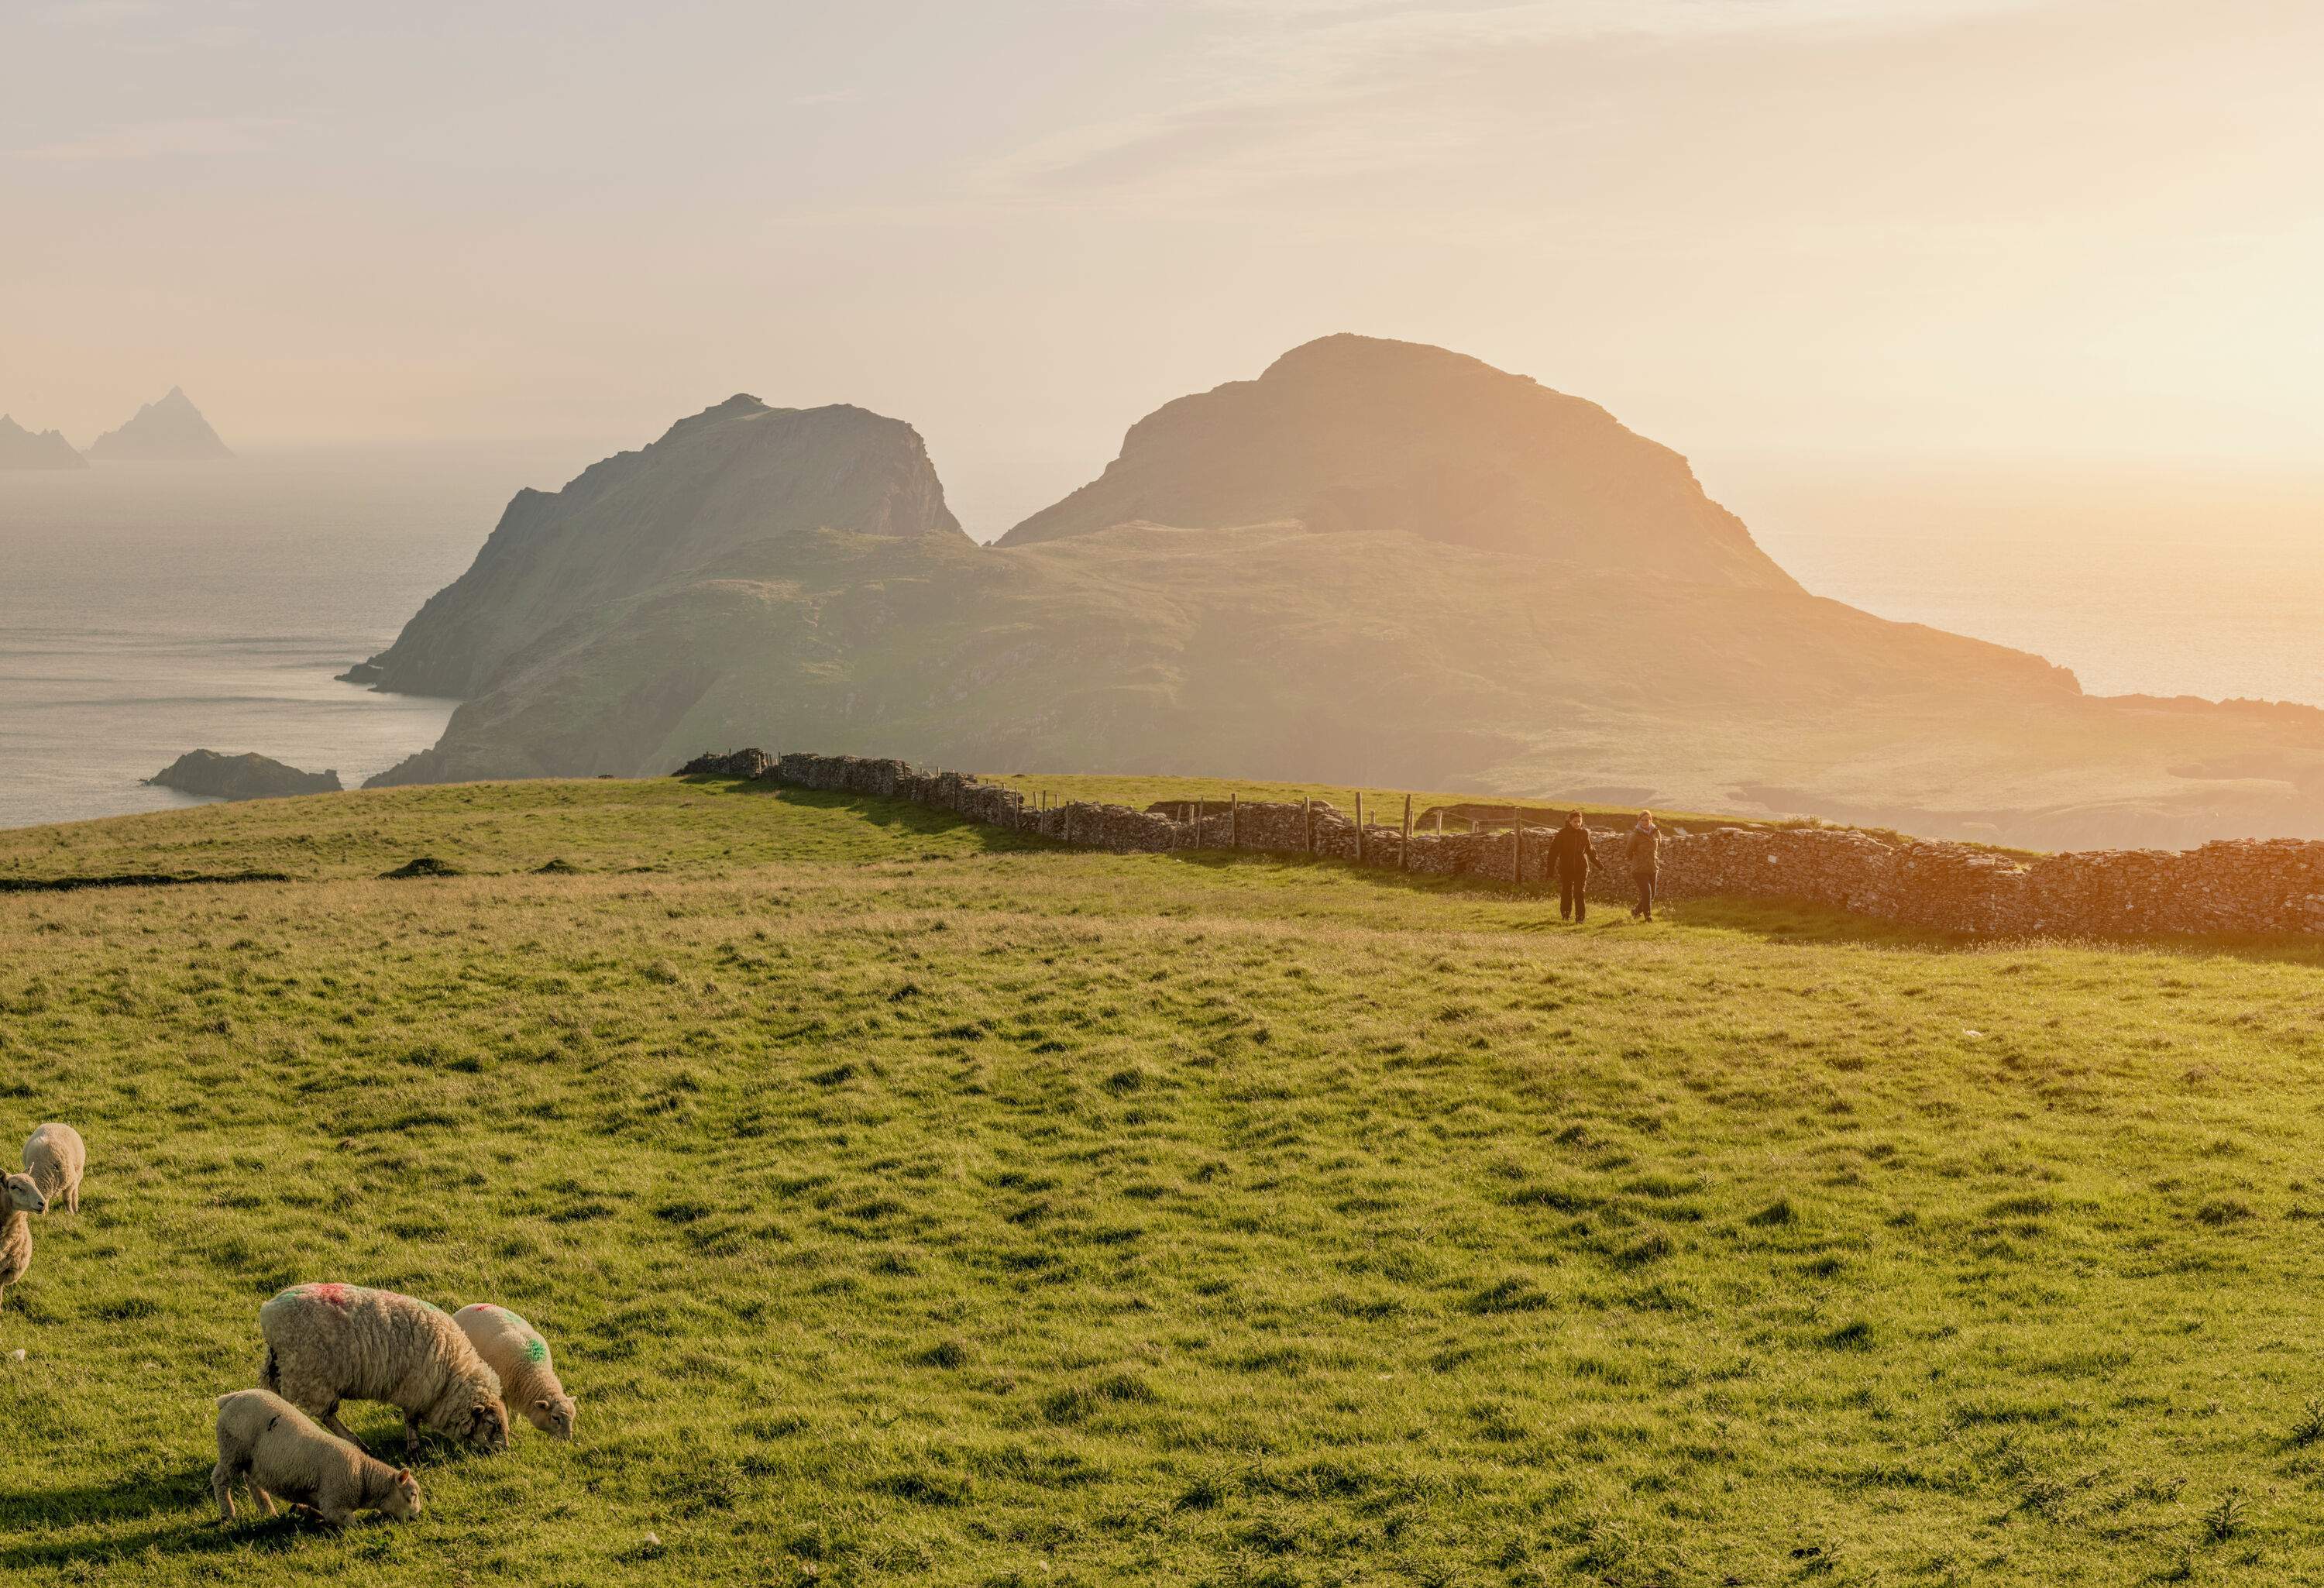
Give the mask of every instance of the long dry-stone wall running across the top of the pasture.
M 1355 818 L 1325 800 L 1206 802 L 1202 821 L 1069 800 L 1046 809 L 964 772 L 865 756 L 700 756 L 681 777 L 758 777 L 792 788 L 911 800 L 1062 844 L 1118 853 L 1250 849 L 1313 853 L 1425 877 L 1550 888 L 1552 828 L 1420 832 Z M 1543 811 L 1548 816 L 1548 811 Z M 1624 830 L 1594 828 L 1592 897 L 1629 900 Z M 1762 897 L 1987 937 L 2324 935 L 2324 842 L 2229 839 L 2201 849 L 2101 849 L 2020 860 L 1971 844 L 1889 842 L 1848 828 L 1713 828 L 1662 839 L 1662 897 Z

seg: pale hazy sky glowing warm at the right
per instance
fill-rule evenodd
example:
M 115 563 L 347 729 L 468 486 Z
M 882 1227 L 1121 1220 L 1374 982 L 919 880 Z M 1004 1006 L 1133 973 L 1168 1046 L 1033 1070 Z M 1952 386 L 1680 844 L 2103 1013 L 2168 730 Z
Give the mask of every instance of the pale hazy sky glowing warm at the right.
M 992 532 L 1364 330 L 1699 456 L 2305 467 L 2319 81 L 2315 0 L 9 0 L 0 409 L 846 400 Z

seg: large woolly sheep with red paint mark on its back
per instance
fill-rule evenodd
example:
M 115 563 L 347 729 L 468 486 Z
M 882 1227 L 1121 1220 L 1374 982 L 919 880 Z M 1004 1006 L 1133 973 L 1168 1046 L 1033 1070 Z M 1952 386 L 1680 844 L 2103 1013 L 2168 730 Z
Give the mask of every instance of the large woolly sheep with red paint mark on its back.
M 363 1286 L 290 1286 L 258 1309 L 267 1339 L 260 1388 L 363 1446 L 342 1400 L 383 1400 L 404 1414 L 404 1448 L 435 1428 L 479 1451 L 509 1448 L 500 1376 L 439 1307 Z

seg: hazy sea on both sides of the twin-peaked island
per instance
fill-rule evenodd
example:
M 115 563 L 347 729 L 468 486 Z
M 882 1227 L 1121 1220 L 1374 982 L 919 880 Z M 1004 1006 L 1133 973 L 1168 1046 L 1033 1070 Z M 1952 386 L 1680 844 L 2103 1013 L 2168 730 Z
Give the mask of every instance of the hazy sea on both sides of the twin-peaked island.
M 609 451 L 284 449 L 0 474 L 0 828 L 193 804 L 144 784 L 191 749 L 328 767 L 353 788 L 430 746 L 456 702 L 335 674 L 469 565 L 509 495 Z M 2036 651 L 2092 693 L 2324 707 L 2324 477 L 1766 458 L 1697 472 L 1820 595 Z M 1006 528 L 955 507 L 981 537 Z

